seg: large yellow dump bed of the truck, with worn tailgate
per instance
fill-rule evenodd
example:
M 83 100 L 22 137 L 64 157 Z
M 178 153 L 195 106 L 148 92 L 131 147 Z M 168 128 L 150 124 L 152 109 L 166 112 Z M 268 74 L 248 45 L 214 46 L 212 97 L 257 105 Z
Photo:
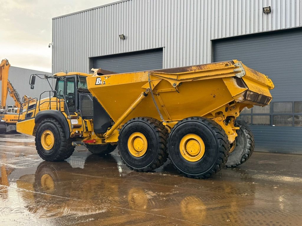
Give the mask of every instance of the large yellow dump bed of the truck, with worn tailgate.
M 113 121 L 129 108 L 147 88 L 149 95 L 124 122 L 137 116 L 178 121 L 205 116 L 228 103 L 265 106 L 272 97 L 273 83 L 240 61 L 224 61 L 190 67 L 107 74 L 87 77 L 88 89 Z M 154 104 L 154 102 L 156 104 Z M 239 114 L 238 114 L 239 115 Z M 214 116 L 213 116 L 214 118 Z

